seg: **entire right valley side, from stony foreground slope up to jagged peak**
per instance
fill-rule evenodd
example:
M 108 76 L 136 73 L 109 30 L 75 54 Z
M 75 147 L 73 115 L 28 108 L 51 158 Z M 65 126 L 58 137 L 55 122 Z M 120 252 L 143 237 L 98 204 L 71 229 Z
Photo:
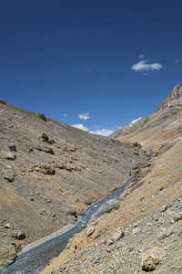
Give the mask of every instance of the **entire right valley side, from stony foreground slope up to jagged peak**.
M 69 240 L 43 274 L 182 273 L 182 86 L 159 110 L 111 137 L 152 150 L 123 201 Z

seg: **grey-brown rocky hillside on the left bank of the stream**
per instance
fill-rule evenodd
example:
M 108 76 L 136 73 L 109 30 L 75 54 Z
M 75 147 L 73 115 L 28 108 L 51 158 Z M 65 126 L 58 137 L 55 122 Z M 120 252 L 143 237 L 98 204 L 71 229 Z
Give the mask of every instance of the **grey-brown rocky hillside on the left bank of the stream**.
M 76 222 L 149 153 L 0 100 L 0 266 Z

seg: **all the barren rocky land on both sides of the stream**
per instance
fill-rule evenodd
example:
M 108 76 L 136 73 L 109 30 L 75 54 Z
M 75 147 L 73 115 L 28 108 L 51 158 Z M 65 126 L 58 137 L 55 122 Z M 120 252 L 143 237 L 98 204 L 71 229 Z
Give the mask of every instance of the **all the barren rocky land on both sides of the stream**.
M 120 206 L 70 239 L 42 273 L 182 273 L 182 90 L 175 89 L 159 111 L 117 140 L 2 103 L 2 264 L 15 259 L 12 239 L 17 253 L 75 222 L 130 172 L 133 183 Z M 18 239 L 21 232 L 25 239 Z

